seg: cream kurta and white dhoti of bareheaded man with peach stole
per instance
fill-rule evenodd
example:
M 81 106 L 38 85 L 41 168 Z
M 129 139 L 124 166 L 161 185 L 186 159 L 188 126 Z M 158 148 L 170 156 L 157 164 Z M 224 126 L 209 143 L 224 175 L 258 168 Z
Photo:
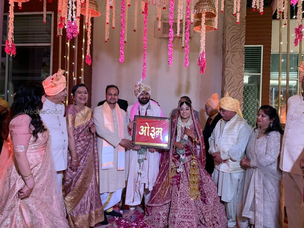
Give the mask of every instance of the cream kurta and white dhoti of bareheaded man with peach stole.
M 131 136 L 127 130 L 126 112 L 121 109 L 124 116 L 124 138 L 131 140 Z M 115 206 L 121 199 L 122 189 L 125 187 L 125 170 L 117 170 L 118 145 L 122 138 L 118 135 L 118 121 L 116 108 L 112 110 L 113 129 L 114 132 L 108 130 L 104 125 L 103 105 L 94 110 L 94 123 L 96 133 L 98 135 L 98 157 L 99 157 L 99 192 L 104 210 Z M 106 140 L 114 147 L 114 167 L 110 169 L 102 169 L 102 140 Z

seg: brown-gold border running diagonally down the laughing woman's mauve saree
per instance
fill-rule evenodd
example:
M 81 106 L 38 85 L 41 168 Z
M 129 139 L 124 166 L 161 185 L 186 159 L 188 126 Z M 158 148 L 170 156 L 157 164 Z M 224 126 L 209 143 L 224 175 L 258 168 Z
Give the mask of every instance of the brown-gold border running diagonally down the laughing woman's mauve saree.
M 77 204 L 82 199 L 83 195 L 87 191 L 90 182 L 92 180 L 93 172 L 94 172 L 94 161 L 93 161 L 93 151 L 89 157 L 87 162 L 86 169 L 82 172 L 79 180 L 77 181 L 77 185 L 75 185 L 73 191 L 69 192 L 64 196 L 64 203 L 67 209 L 67 215 L 69 215 Z

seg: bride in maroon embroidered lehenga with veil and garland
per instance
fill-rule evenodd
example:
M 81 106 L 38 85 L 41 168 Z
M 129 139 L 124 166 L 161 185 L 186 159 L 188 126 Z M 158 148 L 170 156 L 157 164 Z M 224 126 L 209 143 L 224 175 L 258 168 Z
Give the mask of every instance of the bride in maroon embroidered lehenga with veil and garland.
M 144 222 L 157 228 L 226 228 L 225 208 L 204 169 L 202 128 L 189 102 L 178 104 L 171 133 L 173 143 L 162 155 Z M 195 144 L 201 146 L 199 157 Z

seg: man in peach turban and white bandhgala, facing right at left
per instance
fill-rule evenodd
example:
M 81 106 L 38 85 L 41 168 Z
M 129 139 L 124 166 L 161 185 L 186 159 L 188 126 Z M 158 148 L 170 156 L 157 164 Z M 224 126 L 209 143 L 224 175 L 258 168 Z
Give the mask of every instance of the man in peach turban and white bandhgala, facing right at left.
M 67 87 L 64 70 L 47 77 L 43 82 L 45 101 L 41 110 L 41 118 L 51 134 L 51 152 L 59 181 L 58 191 L 62 192 L 62 174 L 67 169 L 67 122 L 64 116 L 64 100 Z

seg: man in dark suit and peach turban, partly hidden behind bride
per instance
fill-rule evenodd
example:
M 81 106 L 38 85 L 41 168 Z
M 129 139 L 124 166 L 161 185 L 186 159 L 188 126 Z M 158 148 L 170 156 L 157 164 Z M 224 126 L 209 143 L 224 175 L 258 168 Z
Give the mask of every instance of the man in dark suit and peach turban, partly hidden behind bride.
M 212 96 L 207 100 L 205 105 L 205 112 L 208 115 L 208 119 L 205 124 L 203 131 L 204 142 L 205 142 L 205 151 L 206 153 L 206 171 L 211 175 L 214 170 L 214 161 L 213 157 L 208 153 L 209 150 L 209 137 L 212 134 L 213 129 L 216 126 L 216 123 L 222 119 L 221 114 L 219 113 L 219 96 L 217 93 L 213 93 Z

